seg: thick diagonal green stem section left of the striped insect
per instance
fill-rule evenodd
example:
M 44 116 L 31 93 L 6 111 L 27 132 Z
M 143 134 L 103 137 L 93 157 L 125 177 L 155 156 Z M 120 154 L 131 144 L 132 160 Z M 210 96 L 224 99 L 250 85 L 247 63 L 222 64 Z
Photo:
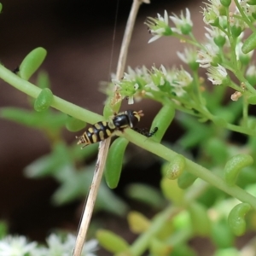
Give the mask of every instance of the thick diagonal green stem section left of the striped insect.
M 6 67 L 0 65 L 0 78 L 3 79 L 8 84 L 14 86 L 16 89 L 26 93 L 28 96 L 32 96 L 33 98 L 37 98 L 41 89 L 38 86 L 24 80 L 20 79 L 15 73 L 12 73 Z M 58 96 L 54 96 L 53 102 L 51 103 L 52 108 L 56 108 L 63 113 L 67 113 L 74 118 L 83 120 L 90 124 L 95 124 L 96 122 L 103 119 L 103 117 L 99 114 L 93 113 L 84 108 L 80 108 L 77 105 L 74 105 L 71 102 L 67 102 L 62 100 Z

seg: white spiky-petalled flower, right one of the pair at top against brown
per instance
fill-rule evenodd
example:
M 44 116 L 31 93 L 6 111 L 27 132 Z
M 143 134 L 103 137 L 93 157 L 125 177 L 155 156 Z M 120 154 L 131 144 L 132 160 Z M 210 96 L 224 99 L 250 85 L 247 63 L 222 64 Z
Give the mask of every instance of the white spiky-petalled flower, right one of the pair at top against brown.
M 183 12 L 182 12 L 180 15 L 180 18 L 178 18 L 177 15 L 173 14 L 172 16 L 170 16 L 170 19 L 176 26 L 176 27 L 172 27 L 173 32 L 177 32 L 178 34 L 183 34 L 183 33 L 188 34 L 191 31 L 193 22 L 190 18 L 189 9 L 186 8 L 185 16 L 183 15 Z

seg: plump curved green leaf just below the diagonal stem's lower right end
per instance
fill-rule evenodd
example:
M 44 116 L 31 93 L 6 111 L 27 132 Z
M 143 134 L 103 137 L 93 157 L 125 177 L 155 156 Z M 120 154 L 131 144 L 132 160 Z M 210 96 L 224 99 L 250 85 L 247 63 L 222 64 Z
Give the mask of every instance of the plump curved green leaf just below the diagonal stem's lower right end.
M 228 221 L 230 229 L 236 236 L 241 236 L 246 231 L 245 214 L 250 210 L 251 206 L 247 203 L 241 203 L 234 207 L 229 215 Z

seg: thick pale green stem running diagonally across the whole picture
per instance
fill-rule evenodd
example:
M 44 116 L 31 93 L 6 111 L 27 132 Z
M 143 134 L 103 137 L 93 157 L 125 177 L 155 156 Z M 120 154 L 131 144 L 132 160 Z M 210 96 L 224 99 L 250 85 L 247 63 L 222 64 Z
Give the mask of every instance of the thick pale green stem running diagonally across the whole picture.
M 15 73 L 10 72 L 2 65 L 0 65 L 0 78 L 2 78 L 7 83 L 13 85 L 16 89 L 21 90 L 27 95 L 34 98 L 36 98 L 41 91 L 41 89 L 39 89 L 37 86 L 31 84 L 24 79 L 20 79 L 17 75 L 15 75 Z M 92 124 L 103 119 L 101 115 L 92 113 L 84 108 L 80 108 L 71 102 L 62 100 L 57 96 L 54 96 L 54 101 L 52 102 L 51 106 L 60 110 L 63 113 L 67 113 L 75 118 L 84 120 L 85 122 L 89 122 Z M 239 127 L 235 126 L 236 125 L 228 125 L 227 128 L 232 131 L 238 131 L 237 129 Z M 245 128 L 241 127 L 241 129 L 243 130 L 241 132 L 245 133 Z M 175 153 L 171 149 L 166 148 L 160 143 L 154 143 L 152 140 L 143 137 L 142 135 L 138 134 L 136 131 L 132 131 L 131 129 L 127 129 L 123 133 L 119 132 L 119 135 L 126 137 L 129 141 L 131 141 L 131 143 L 135 143 L 139 147 L 145 148 L 149 152 L 157 154 L 165 160 L 172 161 L 172 158 L 177 155 L 177 153 Z M 255 136 L 255 134 L 253 135 Z M 207 183 L 212 184 L 212 186 L 215 186 L 218 189 L 221 189 L 224 192 L 228 193 L 229 195 L 236 197 L 238 200 L 249 203 L 253 208 L 256 209 L 256 199 L 252 195 L 247 194 L 247 192 L 237 186 L 229 187 L 226 183 L 224 183 L 224 180 L 222 178 L 216 176 L 212 172 L 208 171 L 206 168 L 195 164 L 191 160 L 186 160 L 186 162 L 189 172 L 205 180 Z

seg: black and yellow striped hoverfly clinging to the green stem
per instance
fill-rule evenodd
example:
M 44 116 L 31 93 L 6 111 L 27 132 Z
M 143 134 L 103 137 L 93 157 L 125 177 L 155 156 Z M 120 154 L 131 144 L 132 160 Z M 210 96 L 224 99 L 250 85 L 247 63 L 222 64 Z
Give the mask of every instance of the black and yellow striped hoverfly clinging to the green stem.
M 134 111 L 131 109 L 115 114 L 113 119 L 110 119 L 109 121 L 100 121 L 84 131 L 82 136 L 76 137 L 79 139 L 78 144 L 84 144 L 84 148 L 87 145 L 98 143 L 111 137 L 114 131 L 123 131 L 125 128 L 133 129 L 143 115 L 142 110 Z M 139 128 L 135 129 L 135 131 L 146 137 L 152 137 L 157 130 L 157 127 L 155 127 L 153 131 Z

